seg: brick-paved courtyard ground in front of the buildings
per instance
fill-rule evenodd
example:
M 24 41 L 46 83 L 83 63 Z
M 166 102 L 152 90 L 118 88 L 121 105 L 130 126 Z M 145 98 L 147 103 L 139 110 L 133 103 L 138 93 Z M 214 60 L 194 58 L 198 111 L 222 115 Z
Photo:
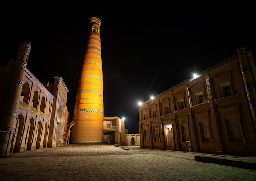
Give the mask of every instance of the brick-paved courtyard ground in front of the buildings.
M 195 161 L 200 153 L 62 146 L 0 158 L 1 181 L 255 181 L 256 171 Z

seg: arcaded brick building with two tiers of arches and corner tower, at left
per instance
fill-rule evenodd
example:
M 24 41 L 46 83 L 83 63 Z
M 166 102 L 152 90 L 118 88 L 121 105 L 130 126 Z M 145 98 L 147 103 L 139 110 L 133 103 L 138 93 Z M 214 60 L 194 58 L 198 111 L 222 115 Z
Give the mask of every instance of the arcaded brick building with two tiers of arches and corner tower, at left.
M 43 84 L 27 69 L 31 43 L 22 41 L 16 60 L 0 67 L 0 154 L 63 144 L 69 118 L 68 89 L 61 77 Z

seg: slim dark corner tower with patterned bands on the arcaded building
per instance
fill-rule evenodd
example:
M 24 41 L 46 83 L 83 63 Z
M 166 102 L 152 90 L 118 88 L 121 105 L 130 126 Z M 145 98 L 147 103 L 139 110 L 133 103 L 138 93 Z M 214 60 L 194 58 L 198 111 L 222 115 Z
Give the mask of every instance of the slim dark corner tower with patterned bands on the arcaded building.
M 27 61 L 31 50 L 31 43 L 27 40 L 20 42 L 20 47 L 14 62 L 9 82 L 6 85 L 4 99 L 0 106 L 0 130 L 13 133 L 18 117 L 18 103 L 22 91 L 23 80 L 27 68 Z M 8 156 L 11 148 L 13 134 L 2 134 L 0 155 Z M 5 153 L 4 153 L 5 152 Z

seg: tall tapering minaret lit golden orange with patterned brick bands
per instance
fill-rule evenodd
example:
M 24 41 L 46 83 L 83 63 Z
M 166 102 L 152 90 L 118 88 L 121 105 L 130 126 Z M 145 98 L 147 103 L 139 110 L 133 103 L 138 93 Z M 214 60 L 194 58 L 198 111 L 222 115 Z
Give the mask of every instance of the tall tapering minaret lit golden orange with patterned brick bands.
M 103 73 L 101 60 L 101 20 L 90 18 L 90 33 L 85 50 L 74 108 L 71 143 L 103 143 Z

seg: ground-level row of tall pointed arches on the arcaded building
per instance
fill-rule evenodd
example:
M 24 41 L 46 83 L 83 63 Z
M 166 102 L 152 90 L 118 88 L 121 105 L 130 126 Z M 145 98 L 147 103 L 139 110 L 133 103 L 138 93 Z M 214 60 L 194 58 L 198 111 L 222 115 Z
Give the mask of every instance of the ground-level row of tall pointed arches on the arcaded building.
M 26 115 L 21 112 L 16 118 L 16 125 L 12 136 L 12 152 L 24 152 L 26 150 L 34 150 L 40 148 L 52 147 L 61 144 L 63 111 L 61 105 L 58 108 L 57 120 L 50 121 L 46 119 L 36 119 L 30 116 L 26 119 Z M 54 130 L 49 134 L 49 130 Z

